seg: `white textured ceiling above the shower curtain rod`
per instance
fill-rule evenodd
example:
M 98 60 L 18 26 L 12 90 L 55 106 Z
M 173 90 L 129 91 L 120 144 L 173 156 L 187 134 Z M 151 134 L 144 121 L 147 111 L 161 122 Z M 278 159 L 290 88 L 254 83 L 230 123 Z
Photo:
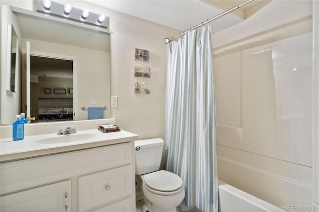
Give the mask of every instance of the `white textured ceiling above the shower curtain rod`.
M 201 0 L 86 0 L 119 12 L 150 20 L 185 31 L 227 9 L 215 6 L 214 1 Z M 244 0 L 224 0 L 220 5 L 228 9 Z M 225 4 L 227 2 L 227 4 Z M 237 4 L 236 4 L 237 3 Z M 237 24 L 244 19 L 229 13 L 214 21 L 212 33 Z

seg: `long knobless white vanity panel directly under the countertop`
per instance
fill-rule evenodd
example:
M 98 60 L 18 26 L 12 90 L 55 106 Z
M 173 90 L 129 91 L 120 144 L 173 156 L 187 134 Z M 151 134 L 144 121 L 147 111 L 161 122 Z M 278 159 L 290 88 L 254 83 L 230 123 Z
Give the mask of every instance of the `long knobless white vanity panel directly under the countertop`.
M 131 143 L 54 154 L 0 165 L 1 195 L 131 164 Z M 132 174 L 132 173 L 131 173 Z

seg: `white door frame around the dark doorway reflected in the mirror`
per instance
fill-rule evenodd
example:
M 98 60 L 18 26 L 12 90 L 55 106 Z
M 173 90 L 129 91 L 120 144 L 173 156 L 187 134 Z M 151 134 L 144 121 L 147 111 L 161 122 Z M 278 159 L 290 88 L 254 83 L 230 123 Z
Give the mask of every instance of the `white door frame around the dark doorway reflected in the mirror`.
M 24 53 L 27 55 L 27 52 L 24 51 Z M 40 52 L 40 51 L 32 51 L 30 50 L 30 56 L 36 56 L 36 57 L 47 57 L 47 58 L 54 58 L 54 59 L 61 59 L 61 60 L 71 60 L 73 62 L 73 120 L 78 120 L 78 84 L 77 84 L 77 76 L 78 76 L 78 68 L 77 68 L 77 57 L 69 56 L 69 55 L 62 55 L 62 54 L 54 54 L 50 52 Z M 26 63 L 30 63 L 30 60 L 26 58 Z M 30 76 L 30 73 L 27 72 L 27 64 L 25 67 L 25 72 L 22 73 L 22 112 L 26 113 L 26 116 L 29 117 L 30 113 L 28 114 L 26 109 L 26 102 L 27 98 L 30 98 L 30 85 L 27 86 L 27 81 L 30 82 L 30 80 L 27 80 L 27 77 Z M 26 88 L 26 91 L 23 92 L 23 88 Z M 28 96 L 28 97 L 27 97 Z M 31 104 L 29 104 L 31 105 Z M 30 107 L 30 106 L 29 106 Z

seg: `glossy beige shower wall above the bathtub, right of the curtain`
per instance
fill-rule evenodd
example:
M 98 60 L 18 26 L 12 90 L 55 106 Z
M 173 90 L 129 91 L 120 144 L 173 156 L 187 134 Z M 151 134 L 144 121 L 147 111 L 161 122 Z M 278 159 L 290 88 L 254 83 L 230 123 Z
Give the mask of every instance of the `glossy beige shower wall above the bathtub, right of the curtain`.
M 219 180 L 285 210 L 312 206 L 311 15 L 272 1 L 212 36 Z

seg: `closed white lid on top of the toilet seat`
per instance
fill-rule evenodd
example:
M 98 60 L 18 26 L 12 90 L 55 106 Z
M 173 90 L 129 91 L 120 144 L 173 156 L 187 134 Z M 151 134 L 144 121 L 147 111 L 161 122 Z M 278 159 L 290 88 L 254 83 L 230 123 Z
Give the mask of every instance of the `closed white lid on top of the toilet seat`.
M 146 174 L 143 178 L 148 187 L 157 191 L 171 192 L 183 186 L 183 182 L 178 175 L 165 170 Z

